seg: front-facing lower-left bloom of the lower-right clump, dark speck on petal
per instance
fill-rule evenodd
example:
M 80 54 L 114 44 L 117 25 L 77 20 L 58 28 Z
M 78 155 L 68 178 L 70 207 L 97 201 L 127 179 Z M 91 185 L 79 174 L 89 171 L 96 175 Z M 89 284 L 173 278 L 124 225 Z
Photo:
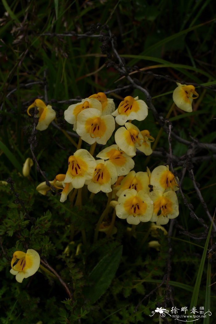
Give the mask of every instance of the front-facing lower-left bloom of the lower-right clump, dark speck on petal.
M 119 218 L 126 218 L 128 224 L 137 225 L 151 219 L 153 202 L 145 191 L 137 193 L 135 189 L 126 189 L 119 196 L 115 211 Z

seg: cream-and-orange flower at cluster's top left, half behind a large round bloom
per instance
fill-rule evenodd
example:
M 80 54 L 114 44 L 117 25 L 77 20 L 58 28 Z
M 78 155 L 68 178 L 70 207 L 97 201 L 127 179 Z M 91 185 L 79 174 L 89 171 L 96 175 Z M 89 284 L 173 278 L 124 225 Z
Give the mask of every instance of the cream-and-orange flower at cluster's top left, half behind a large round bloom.
M 69 124 L 73 124 L 73 130 L 77 129 L 77 116 L 79 113 L 85 109 L 94 108 L 102 111 L 102 106 L 100 101 L 94 98 L 85 98 L 81 102 L 70 105 L 64 112 L 64 118 Z

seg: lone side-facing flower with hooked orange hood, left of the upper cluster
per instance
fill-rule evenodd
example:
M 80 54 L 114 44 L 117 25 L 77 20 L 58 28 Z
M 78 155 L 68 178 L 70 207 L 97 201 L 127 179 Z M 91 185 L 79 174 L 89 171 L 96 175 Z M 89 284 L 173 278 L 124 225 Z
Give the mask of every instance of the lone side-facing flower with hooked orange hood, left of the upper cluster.
M 55 119 L 56 112 L 52 109 L 50 105 L 46 106 L 42 100 L 36 99 L 35 102 L 32 105 L 30 105 L 27 109 L 27 114 L 29 116 L 31 116 L 29 110 L 35 107 L 38 108 L 38 114 L 36 117 L 39 117 L 36 129 L 39 131 L 44 131 L 45 129 L 47 129 L 51 121 Z

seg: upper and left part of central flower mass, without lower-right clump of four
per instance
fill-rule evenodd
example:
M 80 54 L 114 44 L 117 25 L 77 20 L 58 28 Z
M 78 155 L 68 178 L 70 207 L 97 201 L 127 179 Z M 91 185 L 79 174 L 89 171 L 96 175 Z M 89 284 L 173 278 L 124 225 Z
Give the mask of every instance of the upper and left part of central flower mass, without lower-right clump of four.
M 91 149 L 88 152 L 81 148 L 68 158 L 66 174 L 57 175 L 52 182 L 57 189 L 63 189 L 61 202 L 67 199 L 72 189 L 80 189 L 84 184 L 92 193 L 111 192 L 118 176 L 125 176 L 134 168 L 132 157 L 136 155 L 136 149 L 146 155 L 152 153 L 151 142 L 154 138 L 148 130 L 140 132 L 131 123 L 135 119 L 144 120 L 147 114 L 146 103 L 138 97 L 127 96 L 115 110 L 113 99 L 107 98 L 102 92 L 82 99 L 65 110 L 65 120 L 73 125 L 80 139 L 91 147 L 96 143 L 106 145 L 115 130 L 115 122 L 122 127 L 115 132 L 116 144 L 104 148 L 96 156 L 98 159 L 93 157 Z M 46 194 L 49 187 L 43 183 L 37 190 Z

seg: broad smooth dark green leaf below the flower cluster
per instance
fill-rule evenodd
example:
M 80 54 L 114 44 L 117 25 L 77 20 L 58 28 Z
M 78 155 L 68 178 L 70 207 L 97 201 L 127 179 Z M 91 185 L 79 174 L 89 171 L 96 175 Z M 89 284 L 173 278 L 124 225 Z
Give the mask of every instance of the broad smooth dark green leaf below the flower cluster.
M 91 303 L 95 303 L 111 284 L 121 260 L 122 249 L 121 245 L 105 255 L 90 273 L 88 281 L 93 285 L 84 289 L 84 295 Z

